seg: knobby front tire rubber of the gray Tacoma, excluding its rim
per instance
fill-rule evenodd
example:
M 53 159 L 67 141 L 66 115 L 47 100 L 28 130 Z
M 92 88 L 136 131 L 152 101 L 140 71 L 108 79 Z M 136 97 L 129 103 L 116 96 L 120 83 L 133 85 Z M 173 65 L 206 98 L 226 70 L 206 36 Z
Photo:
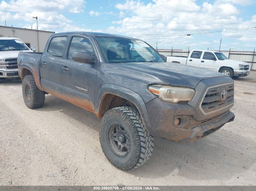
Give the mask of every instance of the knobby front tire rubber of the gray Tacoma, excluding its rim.
M 127 156 L 124 155 L 125 157 L 118 157 L 109 145 L 108 127 L 116 122 L 125 127 L 131 142 L 130 151 L 127 152 Z M 140 167 L 148 161 L 154 147 L 153 136 L 146 130 L 139 111 L 132 107 L 122 106 L 108 110 L 101 119 L 99 138 L 108 161 L 121 170 Z

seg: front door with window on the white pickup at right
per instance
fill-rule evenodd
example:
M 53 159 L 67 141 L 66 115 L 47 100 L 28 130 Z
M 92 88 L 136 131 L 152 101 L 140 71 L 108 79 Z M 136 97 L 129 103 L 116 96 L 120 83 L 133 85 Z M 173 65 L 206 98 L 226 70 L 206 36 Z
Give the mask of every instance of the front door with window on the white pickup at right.
M 210 70 L 216 71 L 218 68 L 218 60 L 216 59 L 215 55 L 210 52 L 204 52 L 204 55 L 201 59 L 201 68 L 208 68 Z

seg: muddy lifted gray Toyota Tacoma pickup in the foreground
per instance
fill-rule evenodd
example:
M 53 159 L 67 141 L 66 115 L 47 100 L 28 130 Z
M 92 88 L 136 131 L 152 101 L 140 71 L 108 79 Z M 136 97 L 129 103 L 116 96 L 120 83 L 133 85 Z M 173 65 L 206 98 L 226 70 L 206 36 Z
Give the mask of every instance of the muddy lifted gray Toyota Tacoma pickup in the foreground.
M 165 62 L 135 38 L 53 34 L 43 53 L 20 52 L 18 69 L 28 108 L 42 107 L 45 94 L 52 94 L 95 113 L 101 119 L 101 148 L 122 170 L 150 158 L 153 136 L 193 142 L 235 117 L 231 78 Z

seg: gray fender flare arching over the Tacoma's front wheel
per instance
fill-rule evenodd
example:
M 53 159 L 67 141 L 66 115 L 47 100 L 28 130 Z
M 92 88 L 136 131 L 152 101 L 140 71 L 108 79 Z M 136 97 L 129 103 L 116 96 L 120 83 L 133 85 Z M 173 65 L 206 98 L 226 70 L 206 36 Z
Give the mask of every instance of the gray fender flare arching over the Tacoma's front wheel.
M 104 84 L 103 86 L 101 86 L 97 99 L 95 100 L 96 113 L 100 113 L 100 108 L 102 107 L 104 97 L 107 94 L 113 94 L 113 95 L 122 97 L 130 101 L 131 103 L 133 103 L 137 107 L 146 129 L 148 130 L 152 129 L 151 122 L 148 115 L 148 110 L 141 96 L 137 94 L 135 91 L 132 91 L 128 88 L 124 88 L 118 85 Z

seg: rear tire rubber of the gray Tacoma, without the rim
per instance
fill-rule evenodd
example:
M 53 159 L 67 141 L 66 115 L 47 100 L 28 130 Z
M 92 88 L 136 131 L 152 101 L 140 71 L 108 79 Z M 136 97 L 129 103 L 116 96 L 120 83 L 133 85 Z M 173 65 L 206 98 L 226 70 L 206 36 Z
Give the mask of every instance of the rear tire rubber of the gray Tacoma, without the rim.
M 25 87 L 29 87 L 31 98 L 27 99 L 25 94 Z M 42 107 L 45 103 L 45 92 L 38 89 L 35 79 L 32 75 L 27 75 L 22 82 L 22 94 L 26 106 L 30 109 Z

